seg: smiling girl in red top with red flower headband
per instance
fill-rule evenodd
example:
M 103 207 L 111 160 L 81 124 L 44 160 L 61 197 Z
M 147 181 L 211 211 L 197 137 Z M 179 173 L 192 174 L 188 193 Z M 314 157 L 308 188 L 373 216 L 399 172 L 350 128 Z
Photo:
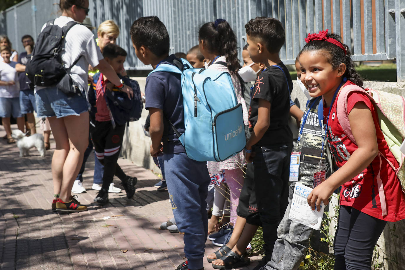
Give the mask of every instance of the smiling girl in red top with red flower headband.
M 399 165 L 341 37 L 326 30 L 309 34 L 305 40 L 299 59 L 301 81 L 310 96 L 324 99 L 326 138 L 339 167 L 313 189 L 308 204 L 319 211 L 320 202 L 328 204 L 333 191 L 341 186 L 334 269 L 370 270 L 373 249 L 387 221 L 405 218 L 405 196 L 388 161 Z M 343 88 L 356 90 L 347 96 L 347 118 L 355 141 L 345 134 L 342 119 L 336 117 Z

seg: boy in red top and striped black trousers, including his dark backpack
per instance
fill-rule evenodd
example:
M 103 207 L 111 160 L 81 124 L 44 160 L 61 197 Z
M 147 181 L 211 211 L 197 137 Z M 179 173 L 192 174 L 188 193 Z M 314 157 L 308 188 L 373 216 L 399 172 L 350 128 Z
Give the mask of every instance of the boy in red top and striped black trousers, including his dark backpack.
M 124 69 L 126 51 L 115 44 L 104 47 L 104 59 L 119 74 Z M 136 81 L 120 76 L 122 83 L 130 85 L 134 91 L 133 98 L 114 87 L 102 74 L 95 74 L 96 83 L 96 115 L 94 127 L 91 126 L 90 134 L 94 144 L 94 152 L 102 165 L 104 174 L 102 187 L 94 202 L 100 205 L 107 204 L 108 192 L 114 175 L 121 181 L 126 191 L 127 198 L 134 196 L 135 185 L 138 179 L 127 176 L 117 164 L 124 137 L 125 125 L 128 121 L 136 121 L 141 117 L 142 102 L 141 91 Z

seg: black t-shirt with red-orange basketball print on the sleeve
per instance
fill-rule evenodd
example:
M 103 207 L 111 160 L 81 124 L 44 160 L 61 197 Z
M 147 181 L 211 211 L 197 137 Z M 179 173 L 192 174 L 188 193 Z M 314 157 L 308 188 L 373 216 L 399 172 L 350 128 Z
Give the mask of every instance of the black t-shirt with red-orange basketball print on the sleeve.
M 278 67 L 277 67 L 278 66 Z M 270 106 L 270 126 L 256 144 L 258 146 L 292 142 L 292 132 L 288 128 L 290 117 L 290 91 L 292 80 L 287 67 L 280 62 L 277 66 L 267 67 L 256 79 L 250 94 L 249 131 L 256 125 L 259 98 L 267 100 Z M 281 68 L 281 69 L 280 69 Z

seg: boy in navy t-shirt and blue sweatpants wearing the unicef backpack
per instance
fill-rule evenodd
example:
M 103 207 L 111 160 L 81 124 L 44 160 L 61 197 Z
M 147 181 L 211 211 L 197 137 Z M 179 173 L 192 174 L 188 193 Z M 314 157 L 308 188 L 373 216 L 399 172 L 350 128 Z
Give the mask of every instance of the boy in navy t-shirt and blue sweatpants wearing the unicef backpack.
M 156 68 L 171 64 L 177 58 L 169 56 L 169 35 L 156 16 L 141 17 L 130 30 L 135 54 L 145 65 Z M 184 233 L 184 253 L 187 261 L 178 270 L 203 269 L 208 219 L 205 209 L 210 177 L 207 162 L 190 159 L 183 145 L 168 125 L 171 121 L 180 133 L 184 132 L 181 75 L 153 72 L 146 79 L 145 108 L 149 110 L 152 140 L 150 153 L 156 157 L 164 153 L 164 172 L 173 215 L 180 232 Z M 163 146 L 161 144 L 163 142 Z

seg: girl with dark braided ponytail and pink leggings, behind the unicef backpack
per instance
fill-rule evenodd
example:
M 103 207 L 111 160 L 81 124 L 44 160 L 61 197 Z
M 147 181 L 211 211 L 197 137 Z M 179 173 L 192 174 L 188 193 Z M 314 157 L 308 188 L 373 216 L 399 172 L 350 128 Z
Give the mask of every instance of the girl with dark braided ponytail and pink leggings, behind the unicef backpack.
M 238 50 L 236 36 L 230 27 L 229 23 L 224 19 L 216 19 L 215 22 L 211 21 L 203 24 L 200 30 L 198 30 L 198 42 L 201 53 L 205 59 L 209 60 L 208 68 L 214 70 L 220 70 L 228 72 L 231 76 L 232 83 L 235 89 L 237 102 L 242 104 L 243 120 L 245 125 L 248 123 L 248 115 L 246 103 L 243 98 L 241 83 L 237 72 L 239 71 L 240 64 L 238 60 Z M 229 193 L 230 197 L 230 225 L 234 225 L 236 222 L 236 209 L 239 203 L 239 195 L 243 185 L 243 171 L 241 167 L 245 163 L 243 152 L 234 155 L 223 162 L 207 162 L 208 171 L 213 174 L 213 177 L 221 175 L 222 171 L 225 172 L 226 185 L 228 185 L 229 191 L 226 191 L 224 186 L 215 186 L 215 193 Z M 222 205 L 217 205 L 214 195 L 214 210 L 209 223 L 209 232 L 213 232 L 214 226 L 218 223 L 220 217 L 220 211 L 223 208 Z M 219 196 L 223 197 L 222 194 Z M 218 200 L 220 201 L 220 200 Z M 231 233 L 231 232 L 229 232 Z M 222 241 L 227 241 L 224 236 Z M 220 243 L 219 239 L 216 239 L 217 245 L 222 246 L 225 242 Z

